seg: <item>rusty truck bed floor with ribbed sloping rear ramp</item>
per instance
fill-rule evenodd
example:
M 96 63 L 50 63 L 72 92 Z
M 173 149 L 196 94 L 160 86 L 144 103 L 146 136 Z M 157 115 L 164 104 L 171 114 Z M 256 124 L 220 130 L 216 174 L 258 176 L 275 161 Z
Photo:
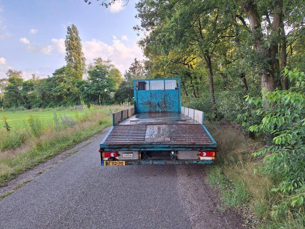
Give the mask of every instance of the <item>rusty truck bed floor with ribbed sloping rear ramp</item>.
M 110 129 L 101 143 L 105 150 L 215 148 L 216 142 L 204 125 L 181 113 L 138 113 Z

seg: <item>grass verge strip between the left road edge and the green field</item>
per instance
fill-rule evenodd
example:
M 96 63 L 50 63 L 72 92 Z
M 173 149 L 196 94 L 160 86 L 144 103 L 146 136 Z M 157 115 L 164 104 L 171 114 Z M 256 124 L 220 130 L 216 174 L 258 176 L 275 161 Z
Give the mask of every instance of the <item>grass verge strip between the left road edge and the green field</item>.
M 31 137 L 19 148 L 0 152 L 0 187 L 16 175 L 45 162 L 60 152 L 112 125 L 111 113 L 121 106 L 94 107 L 69 128 L 49 129 L 40 137 Z

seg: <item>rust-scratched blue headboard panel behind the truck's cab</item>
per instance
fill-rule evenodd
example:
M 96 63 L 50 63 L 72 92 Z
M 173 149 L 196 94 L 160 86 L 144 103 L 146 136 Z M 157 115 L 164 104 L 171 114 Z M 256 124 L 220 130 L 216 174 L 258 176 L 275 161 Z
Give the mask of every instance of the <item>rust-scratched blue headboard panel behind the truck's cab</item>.
M 137 112 L 179 112 L 178 90 L 137 91 Z M 181 109 L 181 108 L 180 108 Z

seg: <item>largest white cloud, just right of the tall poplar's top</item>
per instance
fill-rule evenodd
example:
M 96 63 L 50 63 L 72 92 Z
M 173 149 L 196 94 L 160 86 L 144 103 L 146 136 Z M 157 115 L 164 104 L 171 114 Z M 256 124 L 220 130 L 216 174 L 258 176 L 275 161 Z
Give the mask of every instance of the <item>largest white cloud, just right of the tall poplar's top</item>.
M 134 43 L 126 46 L 115 36 L 113 36 L 112 45 L 107 45 L 96 39 L 83 42 L 83 52 L 88 63 L 101 56 L 103 60 L 112 60 L 113 64 L 123 74 L 124 71 L 130 67 L 130 64 L 135 58 L 138 60 L 143 59 L 142 50 L 137 44 Z

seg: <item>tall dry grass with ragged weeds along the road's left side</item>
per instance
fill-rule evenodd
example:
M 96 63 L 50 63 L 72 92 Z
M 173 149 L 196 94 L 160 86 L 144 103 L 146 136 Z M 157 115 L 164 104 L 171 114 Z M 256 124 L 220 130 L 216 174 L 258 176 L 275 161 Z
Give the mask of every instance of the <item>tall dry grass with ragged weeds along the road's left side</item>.
M 54 115 L 58 122 L 42 130 L 41 123 L 35 120 L 33 123 L 38 123 L 38 127 L 35 126 L 34 130 L 39 133 L 36 135 L 31 128 L 27 131 L 14 130 L 10 133 L 0 130 L 0 186 L 17 174 L 99 133 L 112 124 L 112 112 L 123 109 L 121 106 L 91 105 L 77 120 Z M 22 139 L 22 142 L 15 144 L 17 141 L 14 140 L 15 138 Z M 3 139 L 5 141 L 2 141 Z M 6 143 L 2 144 L 2 142 Z

